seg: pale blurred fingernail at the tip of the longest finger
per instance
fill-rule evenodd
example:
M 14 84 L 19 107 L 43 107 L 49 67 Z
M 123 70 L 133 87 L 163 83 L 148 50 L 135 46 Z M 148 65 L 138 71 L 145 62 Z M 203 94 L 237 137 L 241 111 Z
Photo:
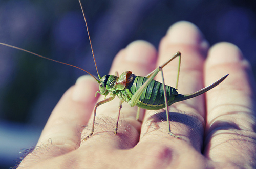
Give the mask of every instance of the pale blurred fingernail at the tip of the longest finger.
M 166 36 L 169 43 L 196 45 L 206 49 L 209 47 L 198 27 L 187 21 L 180 21 L 170 26 Z

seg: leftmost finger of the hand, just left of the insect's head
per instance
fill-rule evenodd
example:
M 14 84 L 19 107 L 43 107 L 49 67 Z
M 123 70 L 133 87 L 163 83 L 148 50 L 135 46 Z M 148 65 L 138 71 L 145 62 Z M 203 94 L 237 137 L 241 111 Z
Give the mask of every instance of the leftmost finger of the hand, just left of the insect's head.
M 37 146 L 50 144 L 50 147 L 54 145 L 66 151 L 74 150 L 80 141 L 82 126 L 88 122 L 96 103 L 97 88 L 98 83 L 92 77 L 80 77 L 54 108 Z

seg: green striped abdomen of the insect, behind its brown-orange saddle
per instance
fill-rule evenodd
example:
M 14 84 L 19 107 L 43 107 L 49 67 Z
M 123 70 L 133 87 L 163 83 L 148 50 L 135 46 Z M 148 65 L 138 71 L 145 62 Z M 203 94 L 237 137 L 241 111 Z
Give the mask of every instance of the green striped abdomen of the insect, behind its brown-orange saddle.
M 134 81 L 128 86 L 132 94 L 134 94 L 147 80 L 146 77 L 136 76 Z M 175 88 L 165 85 L 168 106 L 170 101 L 174 100 Z M 147 88 L 143 91 L 138 103 L 138 107 L 147 110 L 159 110 L 165 107 L 163 84 L 152 80 Z

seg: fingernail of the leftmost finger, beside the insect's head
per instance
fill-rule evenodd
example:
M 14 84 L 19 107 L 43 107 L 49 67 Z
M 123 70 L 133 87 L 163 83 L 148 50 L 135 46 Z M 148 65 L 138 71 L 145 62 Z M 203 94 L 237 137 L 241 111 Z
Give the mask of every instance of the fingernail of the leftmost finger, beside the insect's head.
M 83 75 L 76 80 L 72 99 L 76 102 L 86 103 L 95 97 L 98 90 L 97 82 L 90 75 Z

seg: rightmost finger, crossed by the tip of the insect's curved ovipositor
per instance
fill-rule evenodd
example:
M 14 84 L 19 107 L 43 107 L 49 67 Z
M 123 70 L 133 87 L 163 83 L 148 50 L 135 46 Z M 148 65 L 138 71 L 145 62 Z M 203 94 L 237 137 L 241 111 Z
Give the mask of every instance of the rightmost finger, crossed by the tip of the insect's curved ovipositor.
M 206 94 L 205 155 L 217 162 L 238 166 L 255 161 L 255 81 L 249 63 L 238 47 L 219 43 L 209 51 L 205 83 L 229 73 L 219 86 Z M 254 89 L 253 89 L 254 88 Z M 239 156 L 234 156 L 237 154 Z

